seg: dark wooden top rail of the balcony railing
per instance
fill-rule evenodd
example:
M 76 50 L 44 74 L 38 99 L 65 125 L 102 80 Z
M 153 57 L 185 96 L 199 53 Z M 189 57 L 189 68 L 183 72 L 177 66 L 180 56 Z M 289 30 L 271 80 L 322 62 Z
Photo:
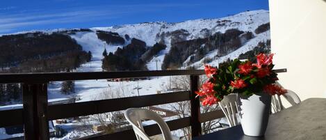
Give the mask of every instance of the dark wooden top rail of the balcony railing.
M 274 70 L 286 72 L 286 69 Z M 115 79 L 135 77 L 161 77 L 174 75 L 204 75 L 204 70 L 149 70 L 127 72 L 43 72 L 43 73 L 3 73 L 0 84 L 6 83 L 42 83 L 47 81 Z

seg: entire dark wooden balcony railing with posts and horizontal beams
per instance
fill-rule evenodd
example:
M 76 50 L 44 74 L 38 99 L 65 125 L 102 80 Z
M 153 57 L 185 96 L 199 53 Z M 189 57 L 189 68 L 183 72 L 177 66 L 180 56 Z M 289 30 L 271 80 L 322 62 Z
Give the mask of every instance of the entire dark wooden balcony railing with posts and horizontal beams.
M 286 69 L 275 71 L 286 72 Z M 48 105 L 47 102 L 47 83 L 49 81 L 160 77 L 174 75 L 189 75 L 190 91 L 76 102 L 70 104 Z M 0 111 L 0 127 L 24 125 L 25 139 L 43 140 L 49 139 L 48 120 L 101 114 L 111 111 L 120 111 L 131 107 L 149 107 L 152 105 L 190 100 L 190 116 L 179 118 L 177 120 L 169 120 L 167 123 L 170 130 L 178 130 L 190 126 L 192 137 L 196 137 L 202 132 L 200 123 L 223 117 L 223 113 L 220 110 L 200 114 L 199 99 L 195 98 L 194 93 L 199 86 L 199 75 L 204 75 L 204 70 L 1 74 L 0 84 L 22 83 L 23 109 Z M 161 133 L 157 125 L 148 125 L 145 127 L 145 131 L 149 136 Z M 136 137 L 132 130 L 125 130 L 113 134 L 95 135 L 82 139 L 136 139 Z

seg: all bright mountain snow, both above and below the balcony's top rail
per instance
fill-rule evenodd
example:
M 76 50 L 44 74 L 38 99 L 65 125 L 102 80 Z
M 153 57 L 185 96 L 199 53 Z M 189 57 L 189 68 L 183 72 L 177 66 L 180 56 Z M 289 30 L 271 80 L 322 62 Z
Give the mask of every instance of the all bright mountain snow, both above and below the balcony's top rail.
M 203 63 L 217 65 L 227 59 L 238 58 L 240 54 L 254 49 L 259 42 L 270 40 L 269 27 L 262 32 L 256 32 L 259 26 L 268 23 L 268 10 L 254 10 L 219 19 L 188 20 L 179 23 L 147 22 L 140 24 L 125 24 L 121 26 L 95 27 L 91 29 L 56 29 L 41 32 L 48 34 L 65 34 L 76 40 L 76 43 L 81 45 L 83 50 L 92 52 L 92 61 L 83 64 L 81 68 L 77 68 L 75 70 L 77 72 L 102 71 L 101 59 L 104 58 L 104 56 L 102 56 L 104 49 L 106 49 L 108 53 L 115 53 L 118 48 L 130 45 L 132 42 L 131 38 L 136 38 L 145 42 L 147 49 L 153 47 L 156 42 L 166 45 L 165 49 L 149 57 L 150 59 L 146 61 L 148 70 L 156 70 L 156 67 L 158 70 L 161 70 L 163 62 L 166 62 L 165 57 L 175 54 L 173 50 L 171 50 L 175 50 L 175 48 L 177 48 L 177 50 L 181 48 L 181 51 L 178 53 L 188 52 L 188 54 L 178 54 L 174 56 L 181 61 L 179 62 L 179 68 L 187 68 L 189 66 L 202 68 Z M 231 51 L 226 50 L 221 54 L 220 52 L 222 52 L 222 50 L 220 49 L 223 49 L 225 46 L 216 47 L 216 49 L 214 49 L 214 44 L 211 42 L 217 42 L 216 38 L 226 40 L 226 35 L 223 33 L 227 33 L 227 31 L 232 29 L 236 29 L 236 31 L 233 32 L 238 33 L 236 34 L 236 39 L 241 40 L 240 44 L 238 44 L 240 46 L 230 49 Z M 106 34 L 100 37 L 99 32 L 101 31 L 104 31 Z M 33 32 L 40 31 L 24 33 Z M 247 34 L 250 35 L 249 38 L 241 37 Z M 191 47 L 191 49 L 185 47 Z M 200 57 L 196 56 L 198 52 L 200 52 L 199 49 L 203 48 L 204 54 Z M 220 56 L 217 54 L 220 54 Z M 197 59 L 194 59 L 194 56 L 196 56 Z M 184 59 L 179 59 L 181 57 L 184 57 Z M 172 59 L 172 61 L 175 60 Z M 136 81 L 130 81 L 129 84 L 124 86 L 128 86 L 131 89 L 131 93 L 138 93 L 139 91 L 142 95 L 145 95 L 163 90 L 162 87 L 164 85 L 162 83 L 166 81 L 166 77 L 157 80 L 161 82 L 142 80 L 138 83 Z M 117 82 L 106 80 L 76 81 L 75 84 L 76 93 L 82 97 L 82 100 L 92 100 L 90 97 L 92 94 L 96 95 L 97 93 L 101 93 L 101 91 L 108 86 L 119 86 Z M 142 88 L 138 88 L 138 86 Z M 66 95 L 60 95 L 60 82 L 51 84 L 49 87 L 49 98 L 61 98 L 62 96 Z

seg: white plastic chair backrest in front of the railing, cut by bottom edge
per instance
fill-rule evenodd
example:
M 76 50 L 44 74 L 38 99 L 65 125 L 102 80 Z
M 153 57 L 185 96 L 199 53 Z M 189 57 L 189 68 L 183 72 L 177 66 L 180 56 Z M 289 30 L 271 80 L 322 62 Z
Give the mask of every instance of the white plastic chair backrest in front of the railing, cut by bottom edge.
M 161 129 L 164 140 L 172 140 L 172 135 L 168 124 L 165 123 L 161 116 L 158 116 L 154 111 L 148 109 L 127 109 L 124 112 L 124 116 L 131 123 L 133 131 L 136 134 L 138 140 L 149 140 L 149 136 L 145 133 L 144 127 L 142 127 L 142 120 L 154 120 Z

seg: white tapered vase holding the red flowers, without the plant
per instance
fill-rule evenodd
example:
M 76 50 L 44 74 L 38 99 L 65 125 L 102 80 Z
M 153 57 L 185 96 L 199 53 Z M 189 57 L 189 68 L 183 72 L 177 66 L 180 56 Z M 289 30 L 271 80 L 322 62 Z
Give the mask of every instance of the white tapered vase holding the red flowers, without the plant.
M 252 137 L 263 136 L 270 116 L 271 96 L 268 93 L 256 93 L 249 98 L 241 95 L 240 101 L 243 133 Z

